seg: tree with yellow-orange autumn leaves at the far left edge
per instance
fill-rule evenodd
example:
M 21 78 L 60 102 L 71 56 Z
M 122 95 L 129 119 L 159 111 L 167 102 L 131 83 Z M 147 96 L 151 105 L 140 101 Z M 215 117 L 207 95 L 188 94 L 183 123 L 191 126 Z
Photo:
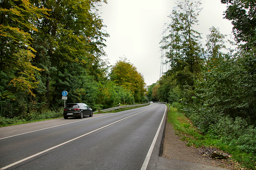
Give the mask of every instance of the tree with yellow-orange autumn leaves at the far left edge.
M 35 89 L 39 88 L 37 75 L 40 75 L 41 69 L 31 63 L 35 52 L 31 46 L 31 33 L 37 32 L 34 22 L 45 13 L 45 9 L 35 7 L 29 0 L 0 2 L 2 115 L 24 115 L 29 109 L 28 104 L 36 97 Z

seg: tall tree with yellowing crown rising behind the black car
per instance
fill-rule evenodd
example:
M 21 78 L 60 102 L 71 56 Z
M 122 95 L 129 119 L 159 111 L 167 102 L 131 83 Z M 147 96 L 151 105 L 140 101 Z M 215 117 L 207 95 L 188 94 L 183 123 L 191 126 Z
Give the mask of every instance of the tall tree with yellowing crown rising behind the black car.
M 60 104 L 63 90 L 72 95 L 74 89 L 84 89 L 82 78 L 101 81 L 106 77 L 106 62 L 101 56 L 108 34 L 102 30 L 104 25 L 97 13 L 100 2 L 34 1 L 36 6 L 49 9 L 35 23 L 39 33 L 33 37 L 37 51 L 34 64 L 44 70 L 41 80 L 46 87 L 46 101 L 52 105 Z

